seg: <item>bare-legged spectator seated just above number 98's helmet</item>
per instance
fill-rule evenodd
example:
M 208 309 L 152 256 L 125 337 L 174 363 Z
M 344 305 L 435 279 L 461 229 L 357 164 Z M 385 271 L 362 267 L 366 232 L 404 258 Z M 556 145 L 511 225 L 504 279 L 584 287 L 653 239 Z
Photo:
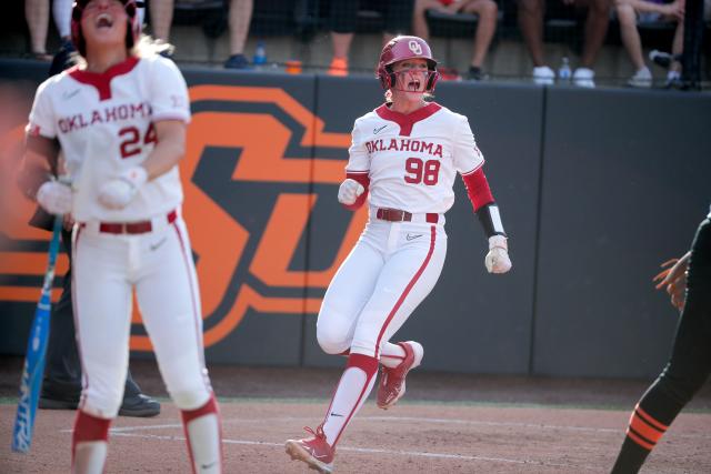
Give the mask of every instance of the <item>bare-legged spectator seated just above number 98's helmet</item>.
M 474 47 L 469 65 L 469 79 L 480 81 L 483 75 L 481 65 L 487 57 L 493 33 L 497 31 L 497 16 L 499 12 L 497 2 L 493 0 L 415 0 L 412 30 L 417 37 L 425 41 L 430 40 L 430 30 L 427 24 L 427 10 L 430 9 L 451 14 L 462 12 L 479 16 Z

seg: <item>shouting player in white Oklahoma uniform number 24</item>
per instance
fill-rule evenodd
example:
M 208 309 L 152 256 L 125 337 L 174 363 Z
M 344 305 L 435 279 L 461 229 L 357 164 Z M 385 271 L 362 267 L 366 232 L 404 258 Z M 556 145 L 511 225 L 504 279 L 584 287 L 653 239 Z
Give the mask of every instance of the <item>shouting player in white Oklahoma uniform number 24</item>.
M 192 471 L 219 473 L 220 418 L 181 218 L 188 90 L 171 61 L 138 44 L 137 18 L 134 0 L 77 1 L 72 40 L 86 63 L 38 88 L 28 125 L 28 155 L 57 160 L 58 145 L 71 181 L 71 188 L 46 182 L 37 200 L 76 222 L 72 286 L 83 387 L 72 472 L 103 472 L 109 425 L 122 400 L 134 290 L 181 410 Z

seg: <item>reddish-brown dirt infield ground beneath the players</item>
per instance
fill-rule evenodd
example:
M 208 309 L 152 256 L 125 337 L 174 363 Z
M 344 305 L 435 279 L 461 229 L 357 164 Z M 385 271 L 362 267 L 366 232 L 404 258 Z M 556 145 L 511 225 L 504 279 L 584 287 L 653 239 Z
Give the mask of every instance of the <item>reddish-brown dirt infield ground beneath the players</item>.
M 132 363 L 132 367 L 148 393 L 164 394 L 152 363 Z M 320 422 L 339 371 L 218 366 L 211 373 L 221 396 L 226 472 L 309 472 L 290 461 L 283 442 L 306 434 L 302 426 Z M 7 392 L 17 390 L 12 381 L 17 376 L 19 362 L 2 359 L 0 395 L 7 397 Z M 629 411 L 648 383 L 413 372 L 407 401 L 389 411 L 378 410 L 372 400 L 367 403 L 339 444 L 336 470 L 605 473 L 622 441 Z M 291 399 L 280 399 L 287 395 Z M 689 409 L 643 472 L 711 472 L 711 390 L 707 386 Z M 13 417 L 14 400 L 4 399 L 1 473 L 69 471 L 72 412 L 39 413 L 30 455 L 10 452 Z M 108 473 L 189 472 L 180 415 L 167 400 L 158 417 L 117 418 L 110 440 Z

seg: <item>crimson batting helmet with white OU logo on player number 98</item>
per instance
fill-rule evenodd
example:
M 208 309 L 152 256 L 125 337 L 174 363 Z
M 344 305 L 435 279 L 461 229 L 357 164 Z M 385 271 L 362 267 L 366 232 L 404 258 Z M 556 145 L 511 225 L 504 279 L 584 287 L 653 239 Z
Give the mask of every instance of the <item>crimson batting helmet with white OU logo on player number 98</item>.
M 383 47 L 375 74 L 380 79 L 382 88 L 388 90 L 395 84 L 397 78 L 392 72 L 392 64 L 405 59 L 424 59 L 427 61 L 430 74 L 424 90 L 432 92 L 440 73 L 437 72 L 437 61 L 432 58 L 430 46 L 420 37 L 395 37 Z

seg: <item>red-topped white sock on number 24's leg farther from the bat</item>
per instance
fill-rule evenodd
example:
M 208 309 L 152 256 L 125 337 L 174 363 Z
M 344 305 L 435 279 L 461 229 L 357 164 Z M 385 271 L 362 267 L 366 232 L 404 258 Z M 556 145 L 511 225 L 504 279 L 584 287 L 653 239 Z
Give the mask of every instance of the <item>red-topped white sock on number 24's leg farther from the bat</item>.
M 182 410 L 190 465 L 194 473 L 222 472 L 222 425 L 214 394 L 197 410 Z

